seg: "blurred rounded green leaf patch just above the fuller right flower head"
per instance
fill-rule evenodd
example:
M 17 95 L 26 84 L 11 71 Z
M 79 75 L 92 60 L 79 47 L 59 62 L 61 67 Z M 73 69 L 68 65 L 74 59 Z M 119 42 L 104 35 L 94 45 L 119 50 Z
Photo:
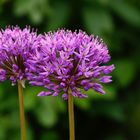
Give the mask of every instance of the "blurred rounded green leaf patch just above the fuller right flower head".
M 102 35 L 103 33 L 111 33 L 113 30 L 112 17 L 104 9 L 86 8 L 83 11 L 83 17 L 85 27 L 91 33 Z

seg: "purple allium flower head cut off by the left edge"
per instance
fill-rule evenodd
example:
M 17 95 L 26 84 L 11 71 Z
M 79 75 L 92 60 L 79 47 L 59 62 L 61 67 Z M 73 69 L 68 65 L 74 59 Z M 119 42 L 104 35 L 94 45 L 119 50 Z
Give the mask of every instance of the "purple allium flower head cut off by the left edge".
M 24 83 L 24 62 L 34 46 L 37 46 L 37 35 L 30 28 L 21 30 L 16 26 L 0 31 L 0 81 L 10 79 L 12 85 L 17 80 Z

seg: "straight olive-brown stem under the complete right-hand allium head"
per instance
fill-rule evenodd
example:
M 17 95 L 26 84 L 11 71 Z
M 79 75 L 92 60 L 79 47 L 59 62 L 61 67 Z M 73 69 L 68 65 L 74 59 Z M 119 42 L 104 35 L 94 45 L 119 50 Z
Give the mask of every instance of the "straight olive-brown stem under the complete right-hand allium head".
M 69 112 L 69 140 L 75 140 L 74 105 L 71 90 L 68 90 L 68 112 Z

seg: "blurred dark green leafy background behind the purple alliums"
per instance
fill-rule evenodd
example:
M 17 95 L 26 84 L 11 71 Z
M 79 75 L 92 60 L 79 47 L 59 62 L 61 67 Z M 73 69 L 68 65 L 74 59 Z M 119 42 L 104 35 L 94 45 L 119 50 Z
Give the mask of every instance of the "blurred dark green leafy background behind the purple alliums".
M 75 99 L 76 140 L 140 140 L 139 0 L 0 0 L 0 28 L 19 25 L 39 33 L 68 28 L 99 35 L 109 46 L 113 83 L 106 94 Z M 68 140 L 67 102 L 36 97 L 26 86 L 28 140 Z M 0 140 L 19 140 L 17 87 L 0 84 Z

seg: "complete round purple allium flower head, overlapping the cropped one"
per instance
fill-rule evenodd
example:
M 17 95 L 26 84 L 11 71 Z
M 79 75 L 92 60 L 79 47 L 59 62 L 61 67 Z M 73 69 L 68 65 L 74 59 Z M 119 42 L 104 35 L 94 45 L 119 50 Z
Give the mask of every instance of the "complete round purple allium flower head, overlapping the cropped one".
M 98 37 L 82 31 L 58 30 L 46 34 L 38 50 L 26 62 L 30 84 L 48 90 L 38 96 L 62 93 L 63 99 L 67 99 L 70 89 L 74 97 L 85 98 L 87 95 L 81 93 L 81 89 L 94 89 L 104 94 L 101 83 L 112 81 L 107 74 L 112 72 L 114 65 L 104 65 L 109 62 L 110 55 Z

